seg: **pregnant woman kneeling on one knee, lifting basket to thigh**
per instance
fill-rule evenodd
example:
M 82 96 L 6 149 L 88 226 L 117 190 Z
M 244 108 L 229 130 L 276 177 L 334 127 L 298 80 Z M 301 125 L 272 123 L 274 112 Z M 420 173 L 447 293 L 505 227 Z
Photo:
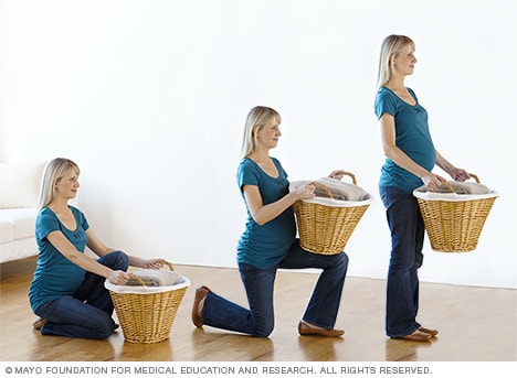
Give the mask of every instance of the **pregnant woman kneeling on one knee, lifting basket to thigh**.
M 274 328 L 273 289 L 277 269 L 319 268 L 323 272 L 304 316 L 300 335 L 341 336 L 334 330 L 348 267 L 345 252 L 325 256 L 308 252 L 296 238 L 293 204 L 313 198 L 310 183 L 289 193 L 287 174 L 270 156 L 281 137 L 281 116 L 274 109 L 255 107 L 247 115 L 238 184 L 247 208 L 247 223 L 238 245 L 238 262 L 250 310 L 198 288 L 192 322 L 267 337 Z M 336 171 L 330 175 L 340 177 Z

